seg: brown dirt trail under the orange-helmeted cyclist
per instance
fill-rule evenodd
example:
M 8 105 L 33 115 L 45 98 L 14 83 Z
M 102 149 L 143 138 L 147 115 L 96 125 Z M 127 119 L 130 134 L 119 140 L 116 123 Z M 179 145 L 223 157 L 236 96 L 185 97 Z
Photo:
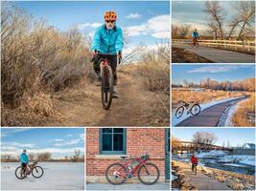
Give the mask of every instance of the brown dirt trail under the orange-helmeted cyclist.
M 55 101 L 58 116 L 47 121 L 47 126 L 168 126 L 169 121 L 161 121 L 157 117 L 155 103 L 158 101 L 156 93 L 144 89 L 142 82 L 132 75 L 119 74 L 119 98 L 113 99 L 108 111 L 101 102 L 101 87 L 89 86 L 74 89 L 72 95 L 78 98 Z M 84 96 L 81 92 L 85 92 Z M 58 96 L 64 96 L 60 93 Z M 68 93 L 69 94 L 69 93 Z M 81 96 L 79 95 L 81 94 Z

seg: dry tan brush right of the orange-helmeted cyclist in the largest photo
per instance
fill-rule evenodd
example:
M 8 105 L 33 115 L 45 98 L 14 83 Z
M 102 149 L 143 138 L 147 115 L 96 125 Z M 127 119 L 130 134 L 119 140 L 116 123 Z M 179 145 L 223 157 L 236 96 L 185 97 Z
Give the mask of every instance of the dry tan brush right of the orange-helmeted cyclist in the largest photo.
M 154 108 L 161 119 L 169 121 L 170 115 L 170 47 L 161 45 L 155 52 L 142 54 L 136 65 L 135 77 L 141 77 L 146 90 L 157 93 Z

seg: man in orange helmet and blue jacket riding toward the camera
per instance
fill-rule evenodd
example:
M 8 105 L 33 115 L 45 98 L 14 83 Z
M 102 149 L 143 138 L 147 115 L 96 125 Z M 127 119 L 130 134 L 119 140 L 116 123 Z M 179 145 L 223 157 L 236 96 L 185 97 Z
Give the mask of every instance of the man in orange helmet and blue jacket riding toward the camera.
M 118 98 L 117 94 L 117 62 L 122 58 L 123 51 L 123 31 L 121 28 L 116 26 L 117 15 L 115 11 L 106 11 L 105 15 L 105 24 L 99 27 L 92 40 L 92 55 L 94 57 L 93 68 L 98 77 L 97 85 L 101 85 L 101 68 L 99 60 L 101 59 L 100 55 L 97 53 L 118 53 L 117 56 L 108 56 L 107 59 L 110 62 L 110 67 L 113 71 L 114 77 L 114 89 L 113 89 L 113 98 Z

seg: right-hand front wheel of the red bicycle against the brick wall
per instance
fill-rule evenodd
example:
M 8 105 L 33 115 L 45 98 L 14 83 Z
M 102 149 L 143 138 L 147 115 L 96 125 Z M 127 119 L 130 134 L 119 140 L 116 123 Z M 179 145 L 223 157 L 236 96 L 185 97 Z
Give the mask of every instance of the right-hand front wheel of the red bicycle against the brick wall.
M 160 177 L 159 169 L 153 163 L 147 162 L 140 166 L 138 171 L 139 180 L 147 185 L 151 185 L 157 182 Z

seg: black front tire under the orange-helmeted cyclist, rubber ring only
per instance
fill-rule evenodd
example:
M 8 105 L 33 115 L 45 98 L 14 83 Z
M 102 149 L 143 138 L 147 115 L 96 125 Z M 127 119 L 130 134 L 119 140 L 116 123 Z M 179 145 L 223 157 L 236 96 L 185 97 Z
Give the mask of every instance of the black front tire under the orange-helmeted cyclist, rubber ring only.
M 109 97 L 108 97 L 108 101 L 106 102 L 105 104 L 105 70 L 108 70 L 109 72 Z M 108 110 L 111 106 L 111 103 L 112 103 L 112 96 L 113 96 L 113 72 L 112 72 L 112 69 L 110 66 L 103 66 L 102 67 L 102 104 L 103 104 L 103 108 L 105 110 Z

